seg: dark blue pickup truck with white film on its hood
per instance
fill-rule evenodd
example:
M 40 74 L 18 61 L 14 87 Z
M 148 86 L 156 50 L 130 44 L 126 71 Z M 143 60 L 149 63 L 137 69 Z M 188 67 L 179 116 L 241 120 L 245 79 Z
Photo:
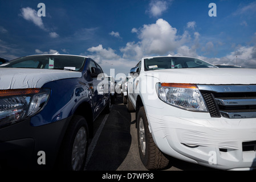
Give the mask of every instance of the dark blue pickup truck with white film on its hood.
M 109 113 L 94 60 L 31 55 L 0 65 L 0 168 L 83 170 L 93 122 Z

